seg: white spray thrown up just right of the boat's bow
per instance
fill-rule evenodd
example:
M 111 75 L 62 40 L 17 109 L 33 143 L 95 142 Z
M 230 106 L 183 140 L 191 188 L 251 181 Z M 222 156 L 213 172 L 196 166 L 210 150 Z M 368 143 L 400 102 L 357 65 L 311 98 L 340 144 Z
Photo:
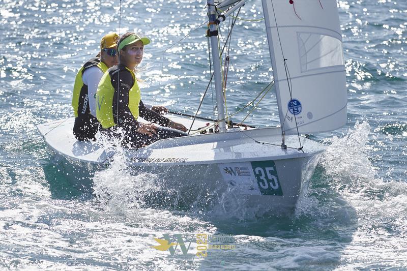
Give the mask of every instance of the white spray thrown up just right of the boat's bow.
M 367 122 L 356 122 L 354 130 L 350 129 L 343 138 L 335 136 L 324 140 L 329 144 L 320 161 L 325 175 L 339 192 L 362 193 L 372 199 L 400 195 L 407 188 L 406 184 L 386 182 L 377 175 L 378 168 L 372 164 L 369 153 L 369 133 Z

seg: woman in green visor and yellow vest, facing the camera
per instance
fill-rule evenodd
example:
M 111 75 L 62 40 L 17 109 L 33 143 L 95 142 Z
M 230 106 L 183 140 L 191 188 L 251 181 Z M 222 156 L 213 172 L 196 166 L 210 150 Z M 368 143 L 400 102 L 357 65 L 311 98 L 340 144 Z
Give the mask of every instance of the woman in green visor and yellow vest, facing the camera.
M 159 139 L 187 135 L 182 124 L 150 110 L 141 101 L 135 68 L 141 62 L 146 37 L 135 33 L 124 34 L 118 42 L 120 64 L 103 75 L 96 94 L 96 116 L 102 125 L 102 134 L 120 138 L 129 148 L 149 145 Z M 138 116 L 154 124 L 137 121 Z

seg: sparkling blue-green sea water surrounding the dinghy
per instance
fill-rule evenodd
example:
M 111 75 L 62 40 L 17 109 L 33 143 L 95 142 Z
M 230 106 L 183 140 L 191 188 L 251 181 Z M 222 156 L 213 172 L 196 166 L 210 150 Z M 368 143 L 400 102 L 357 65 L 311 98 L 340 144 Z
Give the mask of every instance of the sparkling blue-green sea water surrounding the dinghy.
M 94 177 L 106 192 L 99 198 L 69 184 L 36 125 L 73 115 L 76 71 L 104 34 L 136 31 L 152 40 L 140 69 L 145 102 L 193 113 L 209 80 L 204 1 L 121 7 L 104 0 L 0 2 L 0 269 L 407 269 L 405 1 L 338 1 L 347 123 L 312 135 L 327 151 L 295 213 L 281 218 L 242 210 L 221 219 L 216 209 L 146 206 L 128 192 L 158 180 L 130 176 L 120 160 Z M 237 20 L 232 34 L 229 112 L 272 76 L 261 2 L 249 1 L 239 17 L 246 20 Z M 211 95 L 210 88 L 201 116 L 212 117 Z M 273 91 L 247 123 L 278 124 Z M 165 234 L 191 247 L 184 254 L 178 245 L 173 255 L 152 248 Z M 233 247 L 197 257 L 196 234 Z

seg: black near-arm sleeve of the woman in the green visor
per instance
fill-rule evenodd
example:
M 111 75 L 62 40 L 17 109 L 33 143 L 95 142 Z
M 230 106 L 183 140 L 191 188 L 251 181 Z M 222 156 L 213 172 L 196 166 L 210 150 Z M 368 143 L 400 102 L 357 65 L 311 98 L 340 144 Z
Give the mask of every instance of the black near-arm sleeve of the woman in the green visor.
M 117 82 L 119 82 L 119 85 Z M 134 118 L 129 108 L 129 91 L 134 84 L 131 73 L 126 69 L 121 69 L 120 73 L 116 72 L 111 76 L 111 83 L 114 87 L 114 122 L 118 127 L 123 127 L 124 129 L 137 129 L 137 119 Z

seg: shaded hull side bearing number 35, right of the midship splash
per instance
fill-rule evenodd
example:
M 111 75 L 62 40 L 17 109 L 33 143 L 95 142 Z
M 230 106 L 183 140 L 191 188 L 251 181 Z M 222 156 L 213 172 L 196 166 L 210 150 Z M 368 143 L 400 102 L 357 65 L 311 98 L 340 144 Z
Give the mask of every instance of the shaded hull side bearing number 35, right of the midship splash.
M 179 206 L 215 203 L 220 204 L 222 210 L 228 214 L 238 212 L 240 208 L 249 208 L 255 210 L 257 215 L 281 215 L 294 209 L 302 194 L 301 189 L 308 187 L 318 160 L 319 154 L 275 161 L 150 165 L 132 169 L 134 174 L 155 174 L 161 191 L 169 191 L 169 194 L 177 192 L 176 195 L 169 196 L 176 197 Z M 273 168 L 271 171 L 278 173 L 278 182 L 268 178 L 266 172 L 266 180 L 261 180 L 261 174 L 255 174 L 258 168 L 263 171 Z M 259 171 L 261 172 L 257 172 Z

